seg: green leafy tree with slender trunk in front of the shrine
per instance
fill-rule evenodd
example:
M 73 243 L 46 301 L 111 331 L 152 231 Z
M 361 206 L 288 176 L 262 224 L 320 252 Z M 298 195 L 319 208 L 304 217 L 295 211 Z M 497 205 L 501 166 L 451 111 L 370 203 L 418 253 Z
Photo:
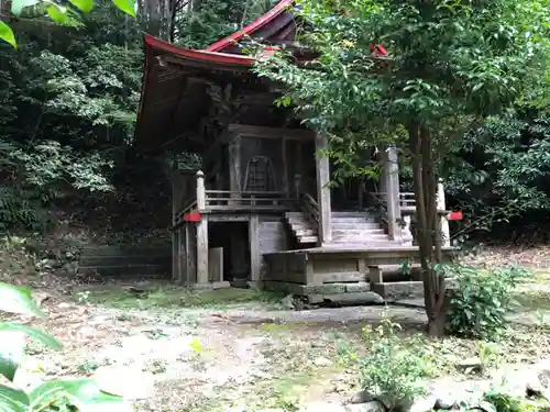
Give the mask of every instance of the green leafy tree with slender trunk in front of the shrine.
M 532 0 L 304 0 L 297 9 L 311 27 L 302 41 L 319 57 L 304 67 L 277 53 L 263 58 L 257 71 L 282 83 L 280 103 L 293 103 L 332 146 L 343 142 L 348 153 L 387 144 L 404 149 L 413 168 L 429 331 L 441 335 L 441 160 L 461 146 L 464 133 L 505 115 L 531 87 L 546 87 L 548 26 L 541 21 L 548 9 Z M 384 44 L 389 55 L 373 53 L 373 44 Z M 351 174 L 356 168 L 341 165 Z

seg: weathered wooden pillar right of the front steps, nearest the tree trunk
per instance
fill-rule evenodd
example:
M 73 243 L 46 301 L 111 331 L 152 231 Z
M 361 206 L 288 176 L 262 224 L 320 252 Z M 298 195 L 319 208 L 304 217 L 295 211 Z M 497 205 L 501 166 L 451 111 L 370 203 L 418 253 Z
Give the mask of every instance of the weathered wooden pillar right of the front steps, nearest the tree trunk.
M 384 187 L 387 213 L 387 229 L 391 241 L 402 241 L 399 221 L 402 210 L 399 202 L 399 164 L 395 146 L 384 152 Z

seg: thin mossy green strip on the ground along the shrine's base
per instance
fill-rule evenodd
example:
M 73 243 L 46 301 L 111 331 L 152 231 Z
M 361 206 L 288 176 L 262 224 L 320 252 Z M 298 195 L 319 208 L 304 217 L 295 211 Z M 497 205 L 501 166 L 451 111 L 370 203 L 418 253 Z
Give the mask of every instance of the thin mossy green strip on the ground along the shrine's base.
M 75 297 L 78 299 L 79 297 Z M 132 289 L 92 290 L 87 302 L 116 309 L 155 308 L 212 308 L 223 309 L 231 305 L 257 303 L 268 309 L 280 309 L 280 293 L 254 289 L 228 288 L 209 291 L 195 291 L 187 288 L 158 287 L 140 291 Z

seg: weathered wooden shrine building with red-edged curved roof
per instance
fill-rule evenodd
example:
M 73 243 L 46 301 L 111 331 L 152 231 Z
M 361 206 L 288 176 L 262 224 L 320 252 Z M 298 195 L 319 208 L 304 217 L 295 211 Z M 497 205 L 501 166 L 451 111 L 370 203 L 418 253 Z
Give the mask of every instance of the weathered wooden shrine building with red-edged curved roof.
M 384 265 L 418 254 L 414 197 L 399 192 L 395 147 L 381 151 L 378 182 L 330 189 L 330 160 L 316 156 L 326 136 L 275 107 L 275 85 L 251 69 L 254 58 L 241 49 L 248 37 L 292 49 L 290 4 L 280 1 L 206 49 L 145 36 L 136 145 L 201 158 L 199 170 L 173 176 L 173 277 L 186 285 L 240 278 L 298 294 L 323 285 L 349 291 L 345 285 L 383 282 Z M 308 58 L 299 49 L 296 57 Z M 448 246 L 441 185 L 438 199 Z M 382 215 L 369 213 L 373 207 Z

